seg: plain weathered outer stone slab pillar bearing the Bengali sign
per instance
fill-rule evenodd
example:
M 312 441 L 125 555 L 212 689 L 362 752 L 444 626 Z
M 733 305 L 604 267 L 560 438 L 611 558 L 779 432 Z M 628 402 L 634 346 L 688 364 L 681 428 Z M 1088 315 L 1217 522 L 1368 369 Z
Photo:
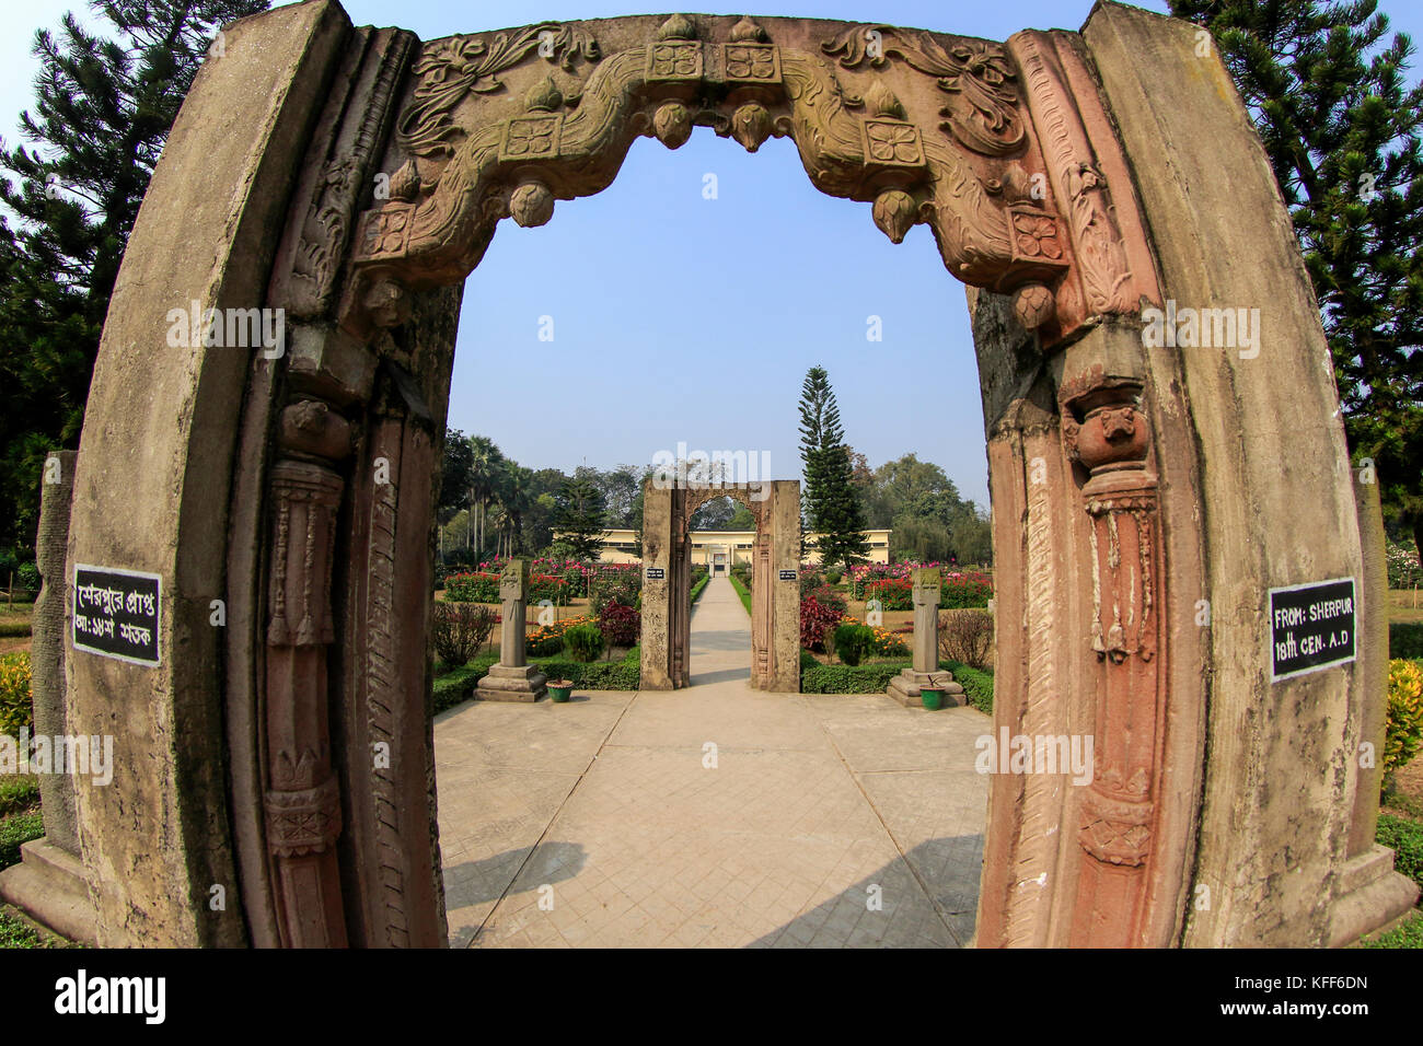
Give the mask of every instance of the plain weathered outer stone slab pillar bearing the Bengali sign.
M 225 56 L 202 64 L 164 145 L 114 285 L 75 461 L 70 562 L 158 575 L 161 599 L 158 663 L 65 650 L 70 731 L 114 739 L 112 781 L 74 786 L 102 946 L 250 939 L 228 805 L 228 626 L 213 601 L 226 598 L 231 495 L 260 460 L 239 447 L 239 418 L 282 364 L 276 346 L 203 344 L 201 330 L 174 339 L 169 317 L 265 305 L 299 159 L 349 33 L 340 6 L 320 1 L 226 27 Z M 266 532 L 265 505 L 253 508 L 249 525 Z M 239 648 L 265 679 L 258 649 Z

